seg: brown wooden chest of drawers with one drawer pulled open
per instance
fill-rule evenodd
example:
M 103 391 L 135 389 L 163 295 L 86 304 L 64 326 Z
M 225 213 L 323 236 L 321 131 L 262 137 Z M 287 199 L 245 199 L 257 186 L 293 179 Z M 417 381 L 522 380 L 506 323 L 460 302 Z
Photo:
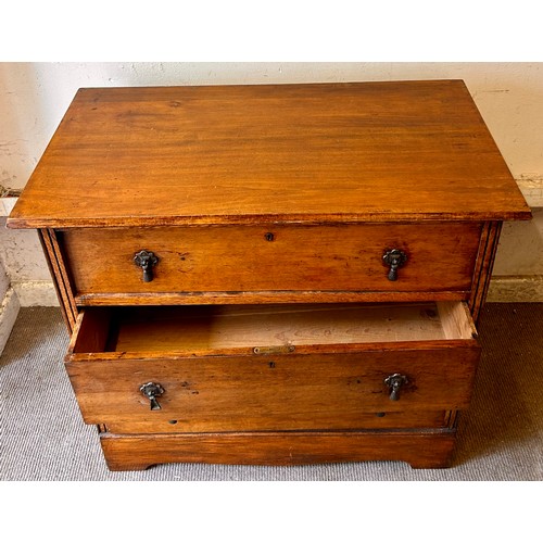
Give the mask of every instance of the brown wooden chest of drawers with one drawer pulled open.
M 81 89 L 37 228 L 110 469 L 451 462 L 503 220 L 459 80 Z

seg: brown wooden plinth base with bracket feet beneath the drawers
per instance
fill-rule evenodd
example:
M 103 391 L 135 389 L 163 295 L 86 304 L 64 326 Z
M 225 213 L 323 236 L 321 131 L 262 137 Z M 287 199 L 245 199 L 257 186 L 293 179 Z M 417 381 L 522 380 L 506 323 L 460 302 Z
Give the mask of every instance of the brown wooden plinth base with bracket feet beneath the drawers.
M 445 468 L 451 463 L 455 431 L 102 433 L 100 438 L 112 471 L 168 462 L 293 466 L 402 460 L 413 468 Z

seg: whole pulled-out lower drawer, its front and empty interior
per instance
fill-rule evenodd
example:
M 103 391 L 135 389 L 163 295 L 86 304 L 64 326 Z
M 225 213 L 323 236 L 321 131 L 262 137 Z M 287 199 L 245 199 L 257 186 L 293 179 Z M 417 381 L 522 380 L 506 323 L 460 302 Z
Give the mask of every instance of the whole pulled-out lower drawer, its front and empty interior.
M 86 422 L 118 433 L 443 427 L 473 333 L 456 302 L 89 307 L 66 368 Z

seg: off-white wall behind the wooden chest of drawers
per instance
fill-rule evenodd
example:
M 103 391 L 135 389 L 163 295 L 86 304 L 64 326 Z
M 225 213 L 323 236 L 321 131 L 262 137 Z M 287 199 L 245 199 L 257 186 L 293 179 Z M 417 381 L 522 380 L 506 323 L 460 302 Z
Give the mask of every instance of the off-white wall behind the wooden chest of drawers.
M 0 63 L 0 185 L 25 186 L 79 87 L 431 78 L 466 81 L 529 204 L 541 207 L 543 63 Z M 534 215 L 505 225 L 494 275 L 535 277 L 534 295 L 543 296 L 543 213 Z M 0 236 L 8 275 L 22 295 L 29 292 L 25 285 L 47 282 L 36 239 L 24 236 Z

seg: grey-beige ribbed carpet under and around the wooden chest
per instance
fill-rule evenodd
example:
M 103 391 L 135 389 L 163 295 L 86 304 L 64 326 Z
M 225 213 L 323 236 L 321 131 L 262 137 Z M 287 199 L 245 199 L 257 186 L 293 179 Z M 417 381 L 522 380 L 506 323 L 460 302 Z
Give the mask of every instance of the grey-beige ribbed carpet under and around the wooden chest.
M 295 467 L 168 464 L 110 472 L 79 415 L 56 308 L 23 308 L 0 358 L 0 480 L 4 481 L 541 481 L 543 304 L 488 304 L 473 401 L 453 467 L 369 462 Z

